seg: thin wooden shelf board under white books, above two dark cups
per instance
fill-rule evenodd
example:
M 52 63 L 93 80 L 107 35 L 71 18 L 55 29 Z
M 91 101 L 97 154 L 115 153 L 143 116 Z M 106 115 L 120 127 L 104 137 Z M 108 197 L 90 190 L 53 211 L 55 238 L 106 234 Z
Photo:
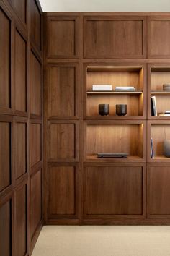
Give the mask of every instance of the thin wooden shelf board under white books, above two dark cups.
M 124 90 L 124 91 L 88 91 L 86 92 L 87 95 L 140 95 L 143 93 L 143 91 L 140 90 L 135 90 L 135 91 L 129 91 L 129 90 Z

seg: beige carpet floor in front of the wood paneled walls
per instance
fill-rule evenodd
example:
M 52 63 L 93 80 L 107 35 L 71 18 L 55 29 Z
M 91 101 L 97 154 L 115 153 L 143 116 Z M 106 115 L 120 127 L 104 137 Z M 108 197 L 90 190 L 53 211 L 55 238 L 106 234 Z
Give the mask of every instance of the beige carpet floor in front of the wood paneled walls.
M 168 256 L 170 226 L 44 226 L 32 256 Z

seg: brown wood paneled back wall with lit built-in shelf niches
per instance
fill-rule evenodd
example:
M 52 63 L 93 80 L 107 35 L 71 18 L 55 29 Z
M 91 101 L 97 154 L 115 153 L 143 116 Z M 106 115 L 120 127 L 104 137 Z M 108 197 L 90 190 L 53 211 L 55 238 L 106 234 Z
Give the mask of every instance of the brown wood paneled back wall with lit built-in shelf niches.
M 170 223 L 169 160 L 161 160 L 169 121 L 151 116 L 150 106 L 151 83 L 170 82 L 169 19 L 169 12 L 44 14 L 45 223 Z M 95 83 L 135 85 L 142 96 L 92 95 Z M 115 115 L 120 101 L 126 116 Z M 169 96 L 159 102 L 169 106 Z M 99 103 L 110 103 L 109 116 L 99 116 Z M 100 161 L 102 150 L 132 157 Z

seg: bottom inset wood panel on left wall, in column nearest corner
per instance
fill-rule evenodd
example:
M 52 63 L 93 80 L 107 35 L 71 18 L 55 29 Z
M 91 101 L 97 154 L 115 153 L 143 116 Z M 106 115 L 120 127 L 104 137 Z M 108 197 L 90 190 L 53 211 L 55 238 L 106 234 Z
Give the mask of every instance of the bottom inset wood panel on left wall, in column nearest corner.
M 30 180 L 30 234 L 33 238 L 42 218 L 41 208 L 41 170 L 31 176 Z

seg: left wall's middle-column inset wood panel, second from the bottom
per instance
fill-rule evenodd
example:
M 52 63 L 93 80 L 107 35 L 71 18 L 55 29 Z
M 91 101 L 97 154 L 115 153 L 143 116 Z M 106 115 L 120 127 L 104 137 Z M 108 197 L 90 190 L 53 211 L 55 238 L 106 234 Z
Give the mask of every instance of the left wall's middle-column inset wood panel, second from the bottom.
M 18 179 L 27 172 L 27 124 L 15 124 L 14 143 L 15 179 Z

